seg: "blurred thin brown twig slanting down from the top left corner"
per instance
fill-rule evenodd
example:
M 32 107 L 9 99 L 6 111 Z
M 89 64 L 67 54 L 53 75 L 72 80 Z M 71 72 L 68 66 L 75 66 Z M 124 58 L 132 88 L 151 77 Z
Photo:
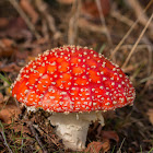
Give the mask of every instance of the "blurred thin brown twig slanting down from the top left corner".
M 16 9 L 16 11 L 22 16 L 22 19 L 25 21 L 26 25 L 32 31 L 32 33 L 34 33 L 35 37 L 37 39 L 39 39 L 40 38 L 40 35 L 36 32 L 35 26 L 30 21 L 30 19 L 26 16 L 26 14 L 24 13 L 24 11 L 21 9 L 21 7 L 19 5 L 17 1 L 16 0 L 9 0 L 9 1 Z

